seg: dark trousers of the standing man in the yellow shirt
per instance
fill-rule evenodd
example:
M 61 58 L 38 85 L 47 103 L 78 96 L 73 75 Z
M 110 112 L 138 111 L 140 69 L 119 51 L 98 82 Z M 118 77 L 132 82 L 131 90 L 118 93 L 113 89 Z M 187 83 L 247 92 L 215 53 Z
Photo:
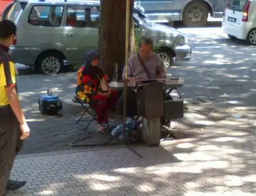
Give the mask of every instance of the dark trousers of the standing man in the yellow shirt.
M 0 195 L 6 192 L 6 183 L 16 157 L 20 136 L 19 122 L 9 105 L 0 106 Z

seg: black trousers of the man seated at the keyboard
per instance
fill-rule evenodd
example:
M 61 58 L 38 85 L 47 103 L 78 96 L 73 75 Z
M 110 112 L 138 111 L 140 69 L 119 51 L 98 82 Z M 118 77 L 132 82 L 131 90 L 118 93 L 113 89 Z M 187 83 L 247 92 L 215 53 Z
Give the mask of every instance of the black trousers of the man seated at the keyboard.
M 124 114 L 124 94 L 119 98 L 117 103 L 117 107 L 121 115 Z M 126 116 L 130 118 L 134 118 L 137 115 L 137 100 L 136 93 L 132 91 L 132 89 L 128 89 L 127 91 L 127 101 L 126 101 Z

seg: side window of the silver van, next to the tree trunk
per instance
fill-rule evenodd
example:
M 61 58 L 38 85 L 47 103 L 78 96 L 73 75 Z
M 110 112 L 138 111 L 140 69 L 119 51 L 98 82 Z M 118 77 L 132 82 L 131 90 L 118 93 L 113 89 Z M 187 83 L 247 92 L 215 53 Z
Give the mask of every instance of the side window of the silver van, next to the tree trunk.
M 67 27 L 98 28 L 100 22 L 99 9 L 97 7 L 68 6 Z

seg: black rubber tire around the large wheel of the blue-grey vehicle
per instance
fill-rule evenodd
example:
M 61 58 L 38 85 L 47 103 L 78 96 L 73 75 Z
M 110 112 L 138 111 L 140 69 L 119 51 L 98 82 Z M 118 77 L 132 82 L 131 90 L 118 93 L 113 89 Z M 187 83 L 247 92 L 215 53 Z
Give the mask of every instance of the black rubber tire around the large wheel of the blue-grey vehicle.
M 189 9 L 193 8 L 195 6 L 200 8 L 201 11 L 203 12 L 203 16 L 202 16 L 203 19 L 201 19 L 201 21 L 199 21 L 199 22 L 192 22 L 189 19 Z M 185 24 L 186 27 L 203 27 L 207 23 L 208 13 L 209 13 L 209 10 L 208 10 L 208 7 L 206 6 L 205 3 L 198 2 L 198 1 L 189 3 L 184 8 L 184 11 L 183 11 L 183 17 L 182 17 L 183 18 L 183 23 Z

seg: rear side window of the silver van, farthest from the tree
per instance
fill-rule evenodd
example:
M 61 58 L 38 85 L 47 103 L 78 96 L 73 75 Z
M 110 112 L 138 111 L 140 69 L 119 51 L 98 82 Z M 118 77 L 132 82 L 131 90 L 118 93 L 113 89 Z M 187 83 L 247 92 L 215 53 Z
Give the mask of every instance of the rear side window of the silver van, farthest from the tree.
M 34 6 L 28 17 L 28 23 L 34 26 L 60 27 L 63 6 Z

